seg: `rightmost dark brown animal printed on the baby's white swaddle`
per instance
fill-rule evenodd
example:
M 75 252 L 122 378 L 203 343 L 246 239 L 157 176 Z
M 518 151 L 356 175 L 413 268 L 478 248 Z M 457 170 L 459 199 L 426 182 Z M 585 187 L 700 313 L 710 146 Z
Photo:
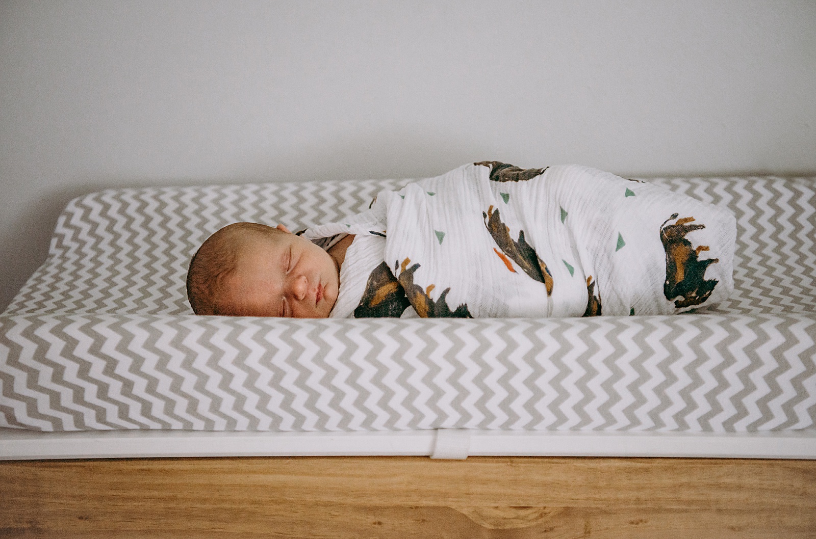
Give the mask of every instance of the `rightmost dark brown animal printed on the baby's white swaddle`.
M 703 224 L 686 224 L 694 221 L 694 217 L 677 219 L 678 214 L 666 219 L 660 226 L 660 241 L 666 251 L 666 282 L 663 284 L 663 295 L 669 301 L 682 296 L 674 302 L 675 307 L 690 307 L 703 303 L 712 294 L 714 287 L 720 281 L 710 279 L 706 281 L 705 273 L 709 265 L 720 262 L 719 258 L 699 260 L 698 255 L 707 251 L 707 245 L 699 245 L 696 249 L 685 235 L 693 230 L 705 228 Z M 677 219 L 674 224 L 667 224 Z

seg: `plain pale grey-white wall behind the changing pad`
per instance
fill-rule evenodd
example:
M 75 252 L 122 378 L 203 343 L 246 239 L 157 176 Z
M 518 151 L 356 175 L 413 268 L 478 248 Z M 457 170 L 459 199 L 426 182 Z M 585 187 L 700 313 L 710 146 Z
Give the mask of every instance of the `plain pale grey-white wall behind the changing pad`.
M 816 2 L 0 0 L 0 310 L 99 188 L 816 171 Z

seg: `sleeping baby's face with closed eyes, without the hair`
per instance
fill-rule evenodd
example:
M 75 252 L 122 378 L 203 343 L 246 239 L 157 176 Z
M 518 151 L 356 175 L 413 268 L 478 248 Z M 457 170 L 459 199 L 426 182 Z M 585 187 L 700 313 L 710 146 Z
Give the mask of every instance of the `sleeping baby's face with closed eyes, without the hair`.
M 278 228 L 279 234 L 250 234 L 242 241 L 235 271 L 224 280 L 219 310 L 234 316 L 326 318 L 339 290 L 335 259 Z

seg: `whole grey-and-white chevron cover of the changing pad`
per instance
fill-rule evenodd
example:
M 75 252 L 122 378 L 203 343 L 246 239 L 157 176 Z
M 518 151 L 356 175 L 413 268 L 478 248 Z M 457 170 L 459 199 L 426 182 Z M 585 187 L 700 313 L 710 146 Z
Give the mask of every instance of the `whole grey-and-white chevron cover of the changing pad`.
M 0 426 L 38 431 L 790 431 L 816 419 L 816 179 L 651 179 L 737 217 L 733 296 L 681 316 L 193 316 L 190 256 L 410 180 L 116 189 L 72 201 L 0 316 Z

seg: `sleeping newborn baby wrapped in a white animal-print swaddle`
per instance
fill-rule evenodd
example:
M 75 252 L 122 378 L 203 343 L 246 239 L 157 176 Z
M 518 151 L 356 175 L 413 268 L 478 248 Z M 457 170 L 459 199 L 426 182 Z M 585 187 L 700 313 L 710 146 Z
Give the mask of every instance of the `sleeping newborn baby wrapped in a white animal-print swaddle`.
M 200 315 L 662 315 L 731 293 L 734 216 L 583 166 L 481 161 L 293 234 L 233 223 L 193 256 Z

